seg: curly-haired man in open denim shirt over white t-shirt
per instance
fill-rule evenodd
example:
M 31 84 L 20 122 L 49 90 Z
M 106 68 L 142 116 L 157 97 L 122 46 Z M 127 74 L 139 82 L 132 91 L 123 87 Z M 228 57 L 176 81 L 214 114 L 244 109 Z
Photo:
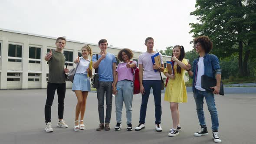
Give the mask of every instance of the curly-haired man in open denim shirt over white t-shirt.
M 194 39 L 194 45 L 196 52 L 199 54 L 198 58 L 193 62 L 193 69 L 191 65 L 187 65 L 188 74 L 193 77 L 192 89 L 194 92 L 194 99 L 197 106 L 197 116 L 200 123 L 200 131 L 194 133 L 194 136 L 208 135 L 207 126 L 203 112 L 203 99 L 207 103 L 208 110 L 211 115 L 213 141 L 221 143 L 219 136 L 219 119 L 218 112 L 215 105 L 215 96 L 220 92 L 220 80 L 221 80 L 221 69 L 220 62 L 217 56 L 209 54 L 210 50 L 213 49 L 213 43 L 208 36 L 198 36 Z M 191 70 L 190 70 L 191 69 Z M 213 79 L 216 79 L 216 86 L 211 87 L 213 92 L 207 91 L 202 88 L 201 76 L 206 75 Z

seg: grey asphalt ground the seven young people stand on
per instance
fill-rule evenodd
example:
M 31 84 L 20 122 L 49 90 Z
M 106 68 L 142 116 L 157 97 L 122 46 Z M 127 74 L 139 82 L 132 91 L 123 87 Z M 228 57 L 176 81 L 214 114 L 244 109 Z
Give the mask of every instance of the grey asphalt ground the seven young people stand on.
M 89 93 L 85 111 L 85 131 L 73 131 L 75 94 L 67 89 L 64 119 L 69 128 L 57 128 L 57 97 L 52 107 L 53 133 L 44 131 L 44 105 L 46 90 L 2 90 L 0 91 L 0 144 L 213 144 L 210 115 L 205 106 L 209 135 L 194 137 L 199 130 L 194 98 L 188 93 L 188 103 L 180 105 L 181 127 L 183 131 L 176 137 L 168 137 L 171 128 L 169 103 L 162 95 L 162 132 L 154 130 L 154 99 L 148 103 L 146 128 L 142 131 L 126 131 L 126 118 L 123 115 L 123 128 L 114 131 L 115 105 L 112 108 L 110 131 L 95 131 L 98 126 L 96 93 Z M 138 125 L 141 95 L 133 100 L 133 126 Z M 223 144 L 256 144 L 256 95 L 226 94 L 216 96 L 219 111 L 220 137 Z M 124 108 L 125 111 L 125 108 Z

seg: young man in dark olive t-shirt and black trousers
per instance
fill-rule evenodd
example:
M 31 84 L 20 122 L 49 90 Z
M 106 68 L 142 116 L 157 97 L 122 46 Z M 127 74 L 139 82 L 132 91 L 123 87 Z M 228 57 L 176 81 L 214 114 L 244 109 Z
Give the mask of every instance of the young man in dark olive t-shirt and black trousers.
M 65 73 L 69 72 L 69 69 L 64 69 L 65 56 L 62 51 L 66 45 L 66 39 L 59 37 L 56 40 L 56 50 L 51 50 L 46 54 L 44 59 L 49 63 L 49 79 L 47 84 L 47 99 L 44 108 L 46 132 L 53 132 L 51 122 L 51 106 L 53 105 L 54 94 L 57 89 L 58 94 L 58 115 L 59 122 L 58 127 L 68 128 L 68 125 L 63 121 L 64 111 L 64 98 L 66 93 L 66 79 Z

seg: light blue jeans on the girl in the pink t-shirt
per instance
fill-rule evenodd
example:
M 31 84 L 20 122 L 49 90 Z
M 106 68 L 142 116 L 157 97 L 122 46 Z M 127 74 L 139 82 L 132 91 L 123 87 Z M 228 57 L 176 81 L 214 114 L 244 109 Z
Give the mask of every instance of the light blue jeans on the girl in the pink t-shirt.
M 121 123 L 122 109 L 125 102 L 127 124 L 131 124 L 133 82 L 121 80 L 117 82 L 117 95 L 115 96 L 116 122 Z

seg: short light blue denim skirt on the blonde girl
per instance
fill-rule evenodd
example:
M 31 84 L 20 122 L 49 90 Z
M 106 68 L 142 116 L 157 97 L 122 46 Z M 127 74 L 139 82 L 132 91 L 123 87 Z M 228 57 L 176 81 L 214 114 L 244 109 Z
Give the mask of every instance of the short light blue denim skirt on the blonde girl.
M 75 73 L 72 91 L 91 91 L 90 78 L 87 77 L 87 74 Z

